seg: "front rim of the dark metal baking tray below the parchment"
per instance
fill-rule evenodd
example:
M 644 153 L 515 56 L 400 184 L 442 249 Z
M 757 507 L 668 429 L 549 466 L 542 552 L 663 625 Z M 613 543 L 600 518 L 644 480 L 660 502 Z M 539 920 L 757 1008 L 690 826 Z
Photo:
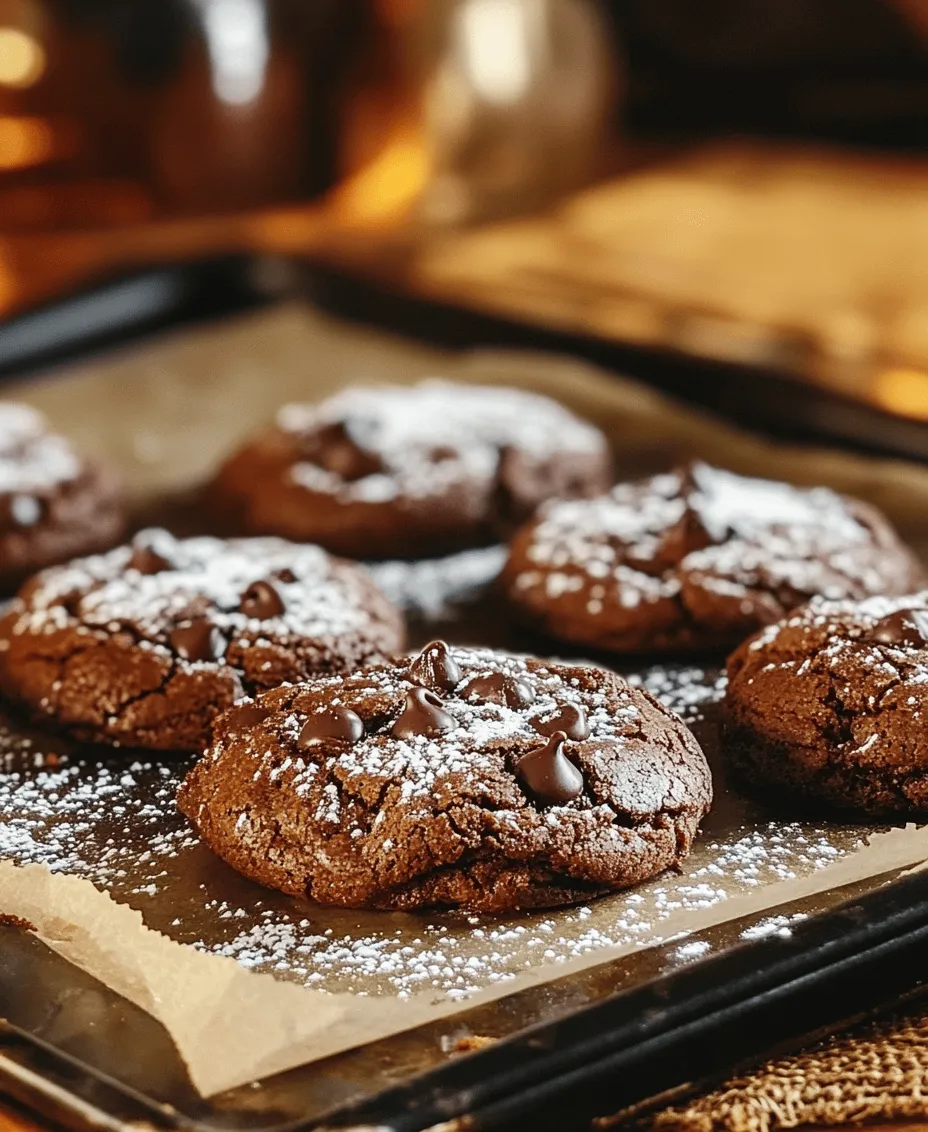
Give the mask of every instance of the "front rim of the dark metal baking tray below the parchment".
M 472 617 L 466 624 L 475 631 Z M 453 637 L 456 625 L 459 617 L 420 625 L 419 634 Z M 498 633 L 491 611 L 483 627 Z M 711 748 L 712 719 L 701 727 Z M 0 1082 L 23 1104 L 80 1127 L 412 1132 L 459 1117 L 475 1129 L 530 1117 L 533 1126 L 579 1126 L 920 987 L 928 877 L 878 877 L 782 912 L 789 929 L 754 942 L 740 942 L 754 920 L 689 937 L 705 945 L 693 954 L 708 958 L 681 962 L 679 942 L 667 942 L 210 1101 L 192 1089 L 156 1021 L 7 926 Z M 504 1037 L 449 1056 L 462 1035 Z

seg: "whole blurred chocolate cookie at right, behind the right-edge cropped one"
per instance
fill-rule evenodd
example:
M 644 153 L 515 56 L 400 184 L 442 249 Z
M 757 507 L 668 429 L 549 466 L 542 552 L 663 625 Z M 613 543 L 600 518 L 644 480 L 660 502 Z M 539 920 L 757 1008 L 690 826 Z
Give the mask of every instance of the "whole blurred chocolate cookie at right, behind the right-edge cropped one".
M 530 624 L 617 652 L 731 646 L 816 594 L 923 582 L 868 504 L 701 463 L 550 504 L 516 535 L 502 575 Z

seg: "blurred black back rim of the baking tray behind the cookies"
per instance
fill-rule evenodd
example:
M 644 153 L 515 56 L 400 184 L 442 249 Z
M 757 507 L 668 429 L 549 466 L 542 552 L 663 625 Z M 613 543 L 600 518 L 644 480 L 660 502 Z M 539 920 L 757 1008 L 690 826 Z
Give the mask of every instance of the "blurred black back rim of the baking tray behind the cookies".
M 770 436 L 928 460 L 928 420 L 883 412 L 785 368 L 711 361 L 466 309 L 406 290 L 395 275 L 330 258 L 222 256 L 101 280 L 81 294 L 0 323 L 0 380 L 294 295 L 435 345 L 583 358 Z

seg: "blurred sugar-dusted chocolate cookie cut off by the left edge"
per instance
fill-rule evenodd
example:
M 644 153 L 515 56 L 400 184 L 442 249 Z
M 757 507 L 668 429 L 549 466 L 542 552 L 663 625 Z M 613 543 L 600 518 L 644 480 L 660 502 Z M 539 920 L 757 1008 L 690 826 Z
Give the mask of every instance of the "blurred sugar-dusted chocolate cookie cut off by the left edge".
M 115 478 L 78 456 L 28 405 L 0 402 L 0 590 L 122 535 Z

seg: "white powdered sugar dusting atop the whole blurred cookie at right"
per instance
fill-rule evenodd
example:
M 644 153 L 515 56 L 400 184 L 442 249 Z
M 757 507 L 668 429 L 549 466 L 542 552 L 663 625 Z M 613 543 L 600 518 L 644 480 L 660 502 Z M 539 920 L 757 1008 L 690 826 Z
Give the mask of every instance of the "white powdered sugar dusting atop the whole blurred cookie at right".
M 909 552 L 859 514 L 827 488 L 696 463 L 599 499 L 547 505 L 510 592 L 539 610 L 568 595 L 575 617 L 582 601 L 579 609 L 621 627 L 618 611 L 668 601 L 679 603 L 681 624 L 698 620 L 696 592 L 763 624 L 783 595 L 797 603 L 909 588 L 917 576 Z

